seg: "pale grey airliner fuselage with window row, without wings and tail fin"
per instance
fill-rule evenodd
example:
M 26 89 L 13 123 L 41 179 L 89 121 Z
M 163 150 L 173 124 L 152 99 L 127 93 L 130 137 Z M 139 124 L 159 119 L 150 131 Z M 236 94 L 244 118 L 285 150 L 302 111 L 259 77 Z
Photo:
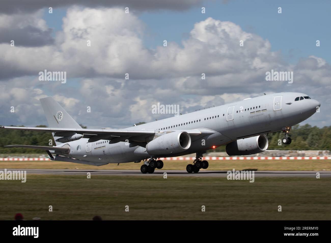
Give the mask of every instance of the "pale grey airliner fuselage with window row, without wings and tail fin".
M 207 136 L 191 136 L 190 148 L 182 153 L 154 157 L 186 155 L 238 139 L 279 131 L 285 126 L 294 126 L 313 115 L 320 106 L 320 103 L 313 99 L 295 101 L 296 97 L 305 96 L 307 95 L 302 93 L 269 94 L 126 129 L 155 131 L 156 135 L 167 131 L 195 129 L 213 132 Z M 69 157 L 100 163 L 126 163 L 151 157 L 145 147 L 133 146 L 129 142 L 108 142 L 109 140 L 88 142 L 85 138 L 67 142 L 71 147 Z

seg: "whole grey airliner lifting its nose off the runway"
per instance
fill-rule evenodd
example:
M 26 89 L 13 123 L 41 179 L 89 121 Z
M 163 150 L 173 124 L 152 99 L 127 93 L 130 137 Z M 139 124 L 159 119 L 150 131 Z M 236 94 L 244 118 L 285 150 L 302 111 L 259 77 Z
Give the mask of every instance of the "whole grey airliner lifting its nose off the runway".
M 320 103 L 302 93 L 277 93 L 248 98 L 230 104 L 145 123 L 125 129 L 83 129 L 52 97 L 40 99 L 49 128 L 1 127 L 26 131 L 52 132 L 56 146 L 9 145 L 46 150 L 50 159 L 89 165 L 146 162 L 142 173 L 162 169 L 164 157 L 196 153 L 187 172 L 207 169 L 202 155 L 208 149 L 226 145 L 228 155 L 249 155 L 268 147 L 265 134 L 288 133 L 318 111 Z M 54 156 L 53 156 L 54 154 Z M 148 160 L 148 161 L 147 161 Z

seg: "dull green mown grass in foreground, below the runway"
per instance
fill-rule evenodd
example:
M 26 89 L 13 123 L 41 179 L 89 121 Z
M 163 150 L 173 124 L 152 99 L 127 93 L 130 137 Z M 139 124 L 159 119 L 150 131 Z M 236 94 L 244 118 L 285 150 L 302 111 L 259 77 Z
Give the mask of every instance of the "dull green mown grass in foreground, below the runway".
M 331 220 L 331 178 L 256 177 L 249 183 L 171 175 L 91 177 L 29 174 L 26 183 L 0 181 L 0 220 L 12 220 L 16 213 L 27 220 L 94 215 L 104 220 Z

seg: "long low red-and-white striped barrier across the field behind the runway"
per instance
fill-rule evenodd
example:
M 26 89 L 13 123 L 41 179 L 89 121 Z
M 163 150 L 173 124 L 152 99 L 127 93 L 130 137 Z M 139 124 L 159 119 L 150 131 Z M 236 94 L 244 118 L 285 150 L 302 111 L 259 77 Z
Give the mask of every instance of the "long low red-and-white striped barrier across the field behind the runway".
M 195 157 L 170 157 L 163 160 L 195 160 Z M 202 160 L 304 160 L 304 159 L 331 159 L 330 156 L 317 157 L 203 157 Z M 0 161 L 51 161 L 49 158 L 0 158 Z

